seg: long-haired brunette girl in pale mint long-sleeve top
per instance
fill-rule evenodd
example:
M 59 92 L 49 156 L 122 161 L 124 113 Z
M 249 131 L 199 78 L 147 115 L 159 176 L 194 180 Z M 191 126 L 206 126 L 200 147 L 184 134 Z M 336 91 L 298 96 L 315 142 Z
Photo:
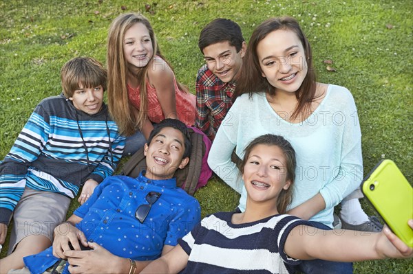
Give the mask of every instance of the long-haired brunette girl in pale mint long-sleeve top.
M 358 201 L 363 160 L 354 99 L 344 87 L 316 82 L 310 45 L 295 19 L 268 19 L 253 32 L 233 100 L 208 162 L 242 194 L 241 210 L 246 192 L 231 152 L 236 147 L 242 158 L 248 142 L 271 133 L 284 136 L 297 152 L 289 214 L 332 227 L 333 207 L 344 199 L 359 209 L 341 212 L 350 216 L 346 222 L 368 221 Z M 346 203 L 341 206 L 348 209 Z

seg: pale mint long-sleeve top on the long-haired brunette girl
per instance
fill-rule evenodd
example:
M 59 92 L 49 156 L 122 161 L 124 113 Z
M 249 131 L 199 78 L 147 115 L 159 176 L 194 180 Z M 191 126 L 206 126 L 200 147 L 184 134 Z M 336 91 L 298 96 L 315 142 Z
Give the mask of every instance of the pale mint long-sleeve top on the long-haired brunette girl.
M 293 124 L 278 115 L 266 95 L 241 95 L 229 110 L 209 152 L 212 170 L 241 194 L 245 210 L 246 190 L 231 153 L 242 159 L 244 148 L 264 134 L 282 135 L 293 145 L 297 157 L 293 201 L 288 209 L 320 193 L 326 208 L 310 220 L 332 227 L 333 207 L 357 189 L 363 177 L 361 130 L 354 99 L 344 87 L 330 84 L 326 97 L 303 122 Z

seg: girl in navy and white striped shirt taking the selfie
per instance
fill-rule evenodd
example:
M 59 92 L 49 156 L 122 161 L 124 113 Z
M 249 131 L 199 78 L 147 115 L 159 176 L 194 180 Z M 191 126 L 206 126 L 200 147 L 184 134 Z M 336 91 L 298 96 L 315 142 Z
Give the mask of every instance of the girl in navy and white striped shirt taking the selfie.
M 207 216 L 142 273 L 293 273 L 300 260 L 353 262 L 413 255 L 387 227 L 369 235 L 326 231 L 285 214 L 295 152 L 284 137 L 257 137 L 246 147 L 240 170 L 248 193 L 245 212 Z M 413 220 L 409 224 L 413 227 Z

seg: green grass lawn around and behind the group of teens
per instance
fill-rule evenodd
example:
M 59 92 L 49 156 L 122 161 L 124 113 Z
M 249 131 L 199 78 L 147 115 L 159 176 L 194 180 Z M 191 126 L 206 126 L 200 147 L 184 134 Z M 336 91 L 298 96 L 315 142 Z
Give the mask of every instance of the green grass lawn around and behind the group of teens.
M 105 62 L 107 29 L 123 12 L 142 12 L 178 80 L 195 93 L 204 63 L 202 27 L 217 17 L 240 24 L 248 41 L 271 16 L 301 23 L 320 82 L 347 87 L 363 134 L 365 174 L 382 158 L 413 180 L 413 23 L 410 1 L 0 1 L 0 159 L 41 99 L 58 95 L 60 69 L 75 56 Z M 324 60 L 332 60 L 335 72 Z M 231 210 L 239 195 L 218 179 L 195 197 L 202 216 Z M 374 210 L 366 201 L 369 214 Z M 71 210 L 77 207 L 73 203 Z M 340 248 L 340 247 L 337 247 Z M 6 248 L 1 256 L 5 255 Z M 412 260 L 357 262 L 354 273 L 413 273 Z

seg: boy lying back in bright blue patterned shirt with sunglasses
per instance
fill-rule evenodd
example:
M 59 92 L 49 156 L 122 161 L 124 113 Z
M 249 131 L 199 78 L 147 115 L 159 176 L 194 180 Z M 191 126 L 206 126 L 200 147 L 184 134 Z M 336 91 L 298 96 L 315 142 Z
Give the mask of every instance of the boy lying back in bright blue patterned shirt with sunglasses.
M 200 222 L 198 201 L 173 178 L 190 154 L 187 127 L 177 119 L 160 122 L 145 144 L 146 172 L 138 178 L 110 176 L 100 183 L 54 229 L 52 247 L 24 258 L 28 270 L 43 273 L 63 258 L 70 264 L 63 273 L 134 273 L 167 253 Z M 81 246 L 93 251 L 81 251 Z

